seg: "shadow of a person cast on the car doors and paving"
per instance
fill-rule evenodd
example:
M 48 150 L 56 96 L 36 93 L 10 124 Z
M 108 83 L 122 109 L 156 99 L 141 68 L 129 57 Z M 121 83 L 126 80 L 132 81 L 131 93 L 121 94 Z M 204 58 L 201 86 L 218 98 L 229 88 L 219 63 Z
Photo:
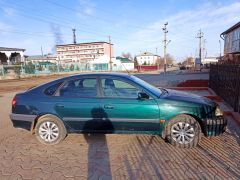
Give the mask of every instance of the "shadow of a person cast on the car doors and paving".
M 112 179 L 109 149 L 104 132 L 112 133 L 113 125 L 102 108 L 93 108 L 92 119 L 84 125 L 84 138 L 88 143 L 87 179 Z M 100 133 L 90 133 L 100 132 Z

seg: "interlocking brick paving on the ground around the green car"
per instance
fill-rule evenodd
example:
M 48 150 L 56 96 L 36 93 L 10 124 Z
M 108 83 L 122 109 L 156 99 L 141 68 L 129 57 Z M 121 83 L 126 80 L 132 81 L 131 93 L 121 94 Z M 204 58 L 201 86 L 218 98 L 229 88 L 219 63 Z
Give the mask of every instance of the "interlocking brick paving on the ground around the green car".
M 150 135 L 69 135 L 44 146 L 8 118 L 12 93 L 0 97 L 0 179 L 240 179 L 240 128 L 202 138 L 191 150 Z

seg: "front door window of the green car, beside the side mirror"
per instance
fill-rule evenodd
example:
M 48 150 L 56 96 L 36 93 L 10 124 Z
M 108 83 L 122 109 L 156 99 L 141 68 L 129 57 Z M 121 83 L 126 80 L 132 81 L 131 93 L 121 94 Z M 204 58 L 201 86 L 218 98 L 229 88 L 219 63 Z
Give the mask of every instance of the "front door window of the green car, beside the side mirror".
M 138 98 L 140 90 L 125 81 L 111 78 L 101 80 L 104 97 L 110 98 Z

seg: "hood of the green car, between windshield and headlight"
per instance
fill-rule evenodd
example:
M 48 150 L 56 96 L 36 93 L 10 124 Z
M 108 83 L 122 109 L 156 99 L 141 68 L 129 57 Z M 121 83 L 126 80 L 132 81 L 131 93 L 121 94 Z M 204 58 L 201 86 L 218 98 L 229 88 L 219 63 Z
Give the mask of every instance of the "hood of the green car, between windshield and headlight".
M 168 93 L 164 95 L 164 99 L 197 103 L 197 104 L 203 104 L 203 105 L 208 105 L 212 107 L 216 106 L 216 103 L 214 101 L 196 94 L 172 90 L 172 89 L 167 89 L 167 91 Z

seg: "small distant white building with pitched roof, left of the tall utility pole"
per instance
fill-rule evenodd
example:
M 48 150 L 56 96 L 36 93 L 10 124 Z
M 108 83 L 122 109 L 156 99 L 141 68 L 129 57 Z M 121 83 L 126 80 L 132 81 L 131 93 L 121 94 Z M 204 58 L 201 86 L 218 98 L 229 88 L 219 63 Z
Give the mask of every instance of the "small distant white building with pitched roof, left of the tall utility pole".
M 144 52 L 136 56 L 139 65 L 156 65 L 160 56 L 150 52 Z

